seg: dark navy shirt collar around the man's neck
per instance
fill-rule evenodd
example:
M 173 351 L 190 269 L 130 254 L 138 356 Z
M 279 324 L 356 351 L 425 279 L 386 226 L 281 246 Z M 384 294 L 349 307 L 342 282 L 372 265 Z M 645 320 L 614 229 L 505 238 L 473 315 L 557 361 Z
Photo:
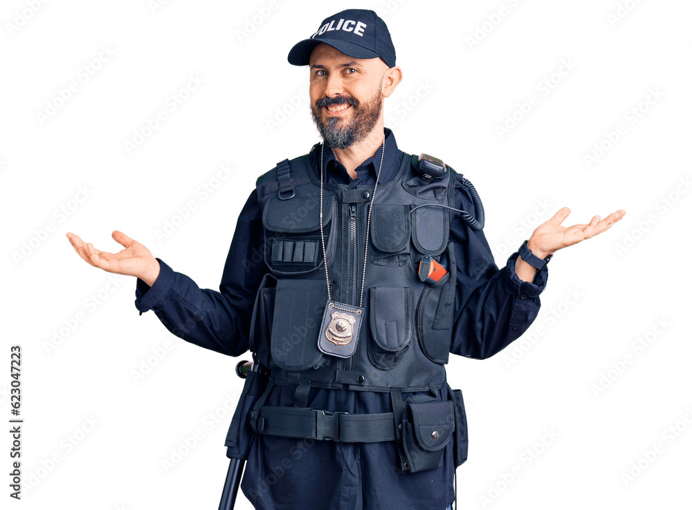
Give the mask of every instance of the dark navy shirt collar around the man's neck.
M 382 171 L 380 172 L 380 183 L 388 182 L 397 175 L 401 168 L 401 158 L 403 155 L 397 146 L 394 133 L 389 128 L 385 128 L 385 157 L 382 160 Z M 315 144 L 310 152 L 310 164 L 320 178 L 320 144 Z M 325 144 L 325 182 L 349 185 L 349 188 L 356 186 L 374 186 L 377 171 L 382 157 L 382 146 L 367 160 L 363 161 L 356 168 L 356 178 L 352 179 L 343 166 L 334 157 L 334 152 L 329 145 Z

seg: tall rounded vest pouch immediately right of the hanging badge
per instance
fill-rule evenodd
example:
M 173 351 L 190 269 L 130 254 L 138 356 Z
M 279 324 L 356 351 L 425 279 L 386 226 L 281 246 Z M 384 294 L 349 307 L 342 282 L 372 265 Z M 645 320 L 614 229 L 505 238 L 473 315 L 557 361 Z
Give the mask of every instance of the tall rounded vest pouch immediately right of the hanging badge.
M 370 340 L 367 356 L 381 370 L 399 364 L 410 348 L 411 290 L 408 287 L 370 289 Z

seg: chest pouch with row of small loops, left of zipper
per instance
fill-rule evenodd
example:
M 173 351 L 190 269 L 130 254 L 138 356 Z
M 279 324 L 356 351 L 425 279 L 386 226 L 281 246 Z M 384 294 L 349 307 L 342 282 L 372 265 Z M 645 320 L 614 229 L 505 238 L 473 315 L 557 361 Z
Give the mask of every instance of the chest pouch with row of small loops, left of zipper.
M 322 229 L 327 267 L 336 253 L 336 196 L 325 196 Z M 320 197 L 268 198 L 262 212 L 264 261 L 273 274 L 293 276 L 316 272 L 323 263 L 320 236 Z

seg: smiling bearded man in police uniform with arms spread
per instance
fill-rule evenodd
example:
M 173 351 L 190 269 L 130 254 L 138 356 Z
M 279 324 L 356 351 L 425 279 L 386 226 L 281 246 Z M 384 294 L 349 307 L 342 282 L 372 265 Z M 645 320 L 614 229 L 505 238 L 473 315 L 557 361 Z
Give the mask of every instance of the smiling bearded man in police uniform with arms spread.
M 248 459 L 242 489 L 260 509 L 448 507 L 467 442 L 449 352 L 482 359 L 518 338 L 552 254 L 625 214 L 563 227 L 563 207 L 498 270 L 473 185 L 399 151 L 384 127 L 383 98 L 402 79 L 395 60 L 368 10 L 339 12 L 293 46 L 324 142 L 257 180 L 220 292 L 122 232 L 118 254 L 67 234 L 86 262 L 138 278 L 140 314 L 217 352 L 252 350 L 260 370 L 226 446 Z M 251 262 L 256 252 L 264 261 Z

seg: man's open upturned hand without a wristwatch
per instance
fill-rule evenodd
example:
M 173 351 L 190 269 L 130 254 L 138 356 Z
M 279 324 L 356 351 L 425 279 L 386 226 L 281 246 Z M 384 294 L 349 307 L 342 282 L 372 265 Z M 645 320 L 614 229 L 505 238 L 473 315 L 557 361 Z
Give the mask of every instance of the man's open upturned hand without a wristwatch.
M 114 230 L 111 234 L 113 239 L 125 247 L 118 253 L 101 252 L 91 243 L 84 243 L 72 232 L 67 232 L 66 236 L 75 252 L 84 261 L 109 273 L 136 276 L 151 287 L 161 271 L 161 265 L 145 245 L 127 237 L 119 230 Z

